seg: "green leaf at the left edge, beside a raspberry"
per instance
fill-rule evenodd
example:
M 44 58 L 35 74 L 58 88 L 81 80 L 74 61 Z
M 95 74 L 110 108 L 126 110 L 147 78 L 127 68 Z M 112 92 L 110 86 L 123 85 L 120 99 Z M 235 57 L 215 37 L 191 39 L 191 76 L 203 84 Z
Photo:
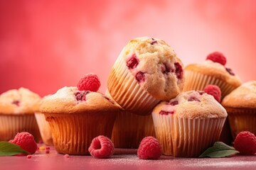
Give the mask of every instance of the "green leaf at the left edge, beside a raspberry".
M 12 156 L 15 154 L 29 154 L 29 152 L 11 142 L 0 142 L 0 156 Z

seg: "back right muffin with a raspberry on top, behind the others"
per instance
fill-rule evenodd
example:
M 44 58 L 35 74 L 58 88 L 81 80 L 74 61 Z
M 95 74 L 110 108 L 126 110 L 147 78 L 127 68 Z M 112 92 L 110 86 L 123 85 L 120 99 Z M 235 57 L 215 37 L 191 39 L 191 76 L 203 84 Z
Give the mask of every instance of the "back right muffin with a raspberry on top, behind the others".
M 225 67 L 225 64 L 226 58 L 220 52 L 211 53 L 205 62 L 188 64 L 185 67 L 186 82 L 183 91 L 201 91 L 208 84 L 213 84 L 220 87 L 224 98 L 242 84 L 238 75 Z

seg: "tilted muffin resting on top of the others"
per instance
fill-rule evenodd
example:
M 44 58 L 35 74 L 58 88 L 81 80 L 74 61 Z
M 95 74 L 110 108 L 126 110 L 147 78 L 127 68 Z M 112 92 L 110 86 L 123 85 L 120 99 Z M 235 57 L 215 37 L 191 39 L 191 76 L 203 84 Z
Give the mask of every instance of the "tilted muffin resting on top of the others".
M 130 113 L 149 115 L 159 101 L 176 97 L 183 89 L 183 64 L 174 50 L 156 38 L 130 40 L 117 57 L 107 89 Z

